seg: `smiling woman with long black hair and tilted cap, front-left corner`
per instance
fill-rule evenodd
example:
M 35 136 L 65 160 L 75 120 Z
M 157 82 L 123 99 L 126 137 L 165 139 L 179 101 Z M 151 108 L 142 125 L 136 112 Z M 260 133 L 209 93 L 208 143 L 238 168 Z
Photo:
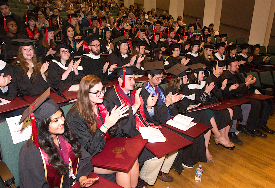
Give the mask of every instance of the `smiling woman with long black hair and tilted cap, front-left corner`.
M 81 187 L 91 186 L 99 179 L 87 178 L 93 171 L 91 156 L 77 142 L 63 110 L 52 99 L 43 98 L 36 100 L 38 107 L 26 109 L 20 120 L 23 122 L 31 111 L 34 113 L 32 137 L 19 153 L 20 187 L 68 188 L 76 181 Z

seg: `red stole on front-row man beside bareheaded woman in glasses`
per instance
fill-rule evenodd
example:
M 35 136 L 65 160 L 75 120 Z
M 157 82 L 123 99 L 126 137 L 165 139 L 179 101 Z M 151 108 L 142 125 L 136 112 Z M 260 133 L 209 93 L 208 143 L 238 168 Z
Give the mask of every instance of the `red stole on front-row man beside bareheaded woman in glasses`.
M 133 91 L 130 92 L 131 99 L 132 99 L 132 100 L 130 100 L 130 98 L 127 96 L 127 94 L 125 94 L 123 92 L 123 90 L 119 87 L 118 84 L 116 84 L 114 86 L 114 88 L 115 88 L 117 97 L 120 99 L 121 104 L 125 104 L 125 106 L 129 106 L 129 107 L 134 105 L 134 103 L 135 103 L 135 96 L 134 95 L 136 94 L 136 90 L 133 90 Z M 135 116 L 136 116 L 136 129 L 138 129 L 138 131 L 139 131 L 139 127 L 148 127 L 148 126 L 156 127 L 156 128 L 162 128 L 161 125 L 155 126 L 154 123 L 148 123 L 146 121 L 145 113 L 144 113 L 143 99 L 142 99 L 141 96 L 139 96 L 139 98 L 140 98 L 141 105 L 140 105 L 138 111 L 135 113 Z

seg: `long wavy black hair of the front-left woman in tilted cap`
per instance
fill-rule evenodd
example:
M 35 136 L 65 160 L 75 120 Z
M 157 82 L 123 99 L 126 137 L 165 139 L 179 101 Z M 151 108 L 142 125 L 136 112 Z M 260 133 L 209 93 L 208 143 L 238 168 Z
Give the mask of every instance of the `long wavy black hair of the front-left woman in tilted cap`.
M 62 112 L 62 116 L 64 116 L 64 112 L 61 108 L 59 110 Z M 53 142 L 53 137 L 49 132 L 49 124 L 51 122 L 51 117 L 48 117 L 38 123 L 36 123 L 37 126 L 37 136 L 38 136 L 38 142 L 40 148 L 48 154 L 48 160 L 51 164 L 51 166 L 56 169 L 57 175 L 61 176 L 65 174 L 66 168 L 68 167 L 68 164 L 65 163 L 65 161 L 62 159 L 60 154 L 58 153 L 58 150 Z M 81 158 L 81 151 L 80 151 L 80 144 L 78 143 L 78 139 L 75 137 L 74 132 L 71 130 L 69 124 L 64 122 L 64 133 L 62 134 L 62 137 L 71 144 L 71 149 L 76 157 Z

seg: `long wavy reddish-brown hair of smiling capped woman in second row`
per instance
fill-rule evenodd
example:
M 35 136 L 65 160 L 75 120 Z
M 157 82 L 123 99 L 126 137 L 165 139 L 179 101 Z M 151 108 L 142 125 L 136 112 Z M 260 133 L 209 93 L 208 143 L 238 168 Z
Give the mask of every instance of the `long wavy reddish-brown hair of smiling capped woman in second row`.
M 24 58 L 23 54 L 22 54 L 22 48 L 24 46 L 20 46 L 18 48 L 18 51 L 17 51 L 17 57 L 16 59 L 13 61 L 12 65 L 20 65 L 23 70 L 25 71 L 25 74 L 23 75 L 23 77 L 27 74 L 28 70 L 29 70 L 29 66 L 28 66 L 28 62 L 26 61 L 26 59 Z M 36 75 L 37 73 L 40 73 L 40 68 L 42 66 L 42 63 L 40 61 L 37 61 L 36 59 L 36 55 L 35 55 L 35 49 L 34 49 L 34 46 L 32 46 L 32 49 L 33 49 L 33 57 L 32 57 L 32 64 L 33 64 L 33 80 L 35 80 L 36 78 Z M 20 63 L 16 63 L 17 61 L 19 61 Z M 48 77 L 48 73 L 45 72 L 45 75 Z

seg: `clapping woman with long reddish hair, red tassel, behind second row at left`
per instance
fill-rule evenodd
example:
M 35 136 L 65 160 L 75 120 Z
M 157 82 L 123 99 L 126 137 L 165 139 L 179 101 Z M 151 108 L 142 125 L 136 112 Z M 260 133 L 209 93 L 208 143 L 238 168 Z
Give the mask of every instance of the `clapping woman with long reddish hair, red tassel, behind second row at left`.
M 54 43 L 53 26 L 45 28 L 44 33 L 44 37 L 38 42 L 37 45 L 38 56 L 42 59 L 53 59 L 56 48 Z

